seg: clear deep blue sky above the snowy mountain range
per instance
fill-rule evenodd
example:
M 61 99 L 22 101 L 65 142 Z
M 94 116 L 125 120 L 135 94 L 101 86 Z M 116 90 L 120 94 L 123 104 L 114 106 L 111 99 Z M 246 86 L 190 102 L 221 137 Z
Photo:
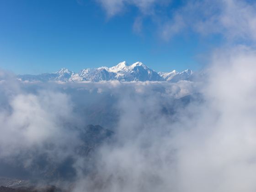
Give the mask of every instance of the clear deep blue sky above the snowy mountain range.
M 183 3 L 154 5 L 154 14 L 147 15 L 135 3 L 110 13 L 101 0 L 0 0 L 0 68 L 16 74 L 62 67 L 78 72 L 126 60 L 155 71 L 198 70 L 222 37 L 187 28 L 162 38 L 163 23 L 173 21 Z

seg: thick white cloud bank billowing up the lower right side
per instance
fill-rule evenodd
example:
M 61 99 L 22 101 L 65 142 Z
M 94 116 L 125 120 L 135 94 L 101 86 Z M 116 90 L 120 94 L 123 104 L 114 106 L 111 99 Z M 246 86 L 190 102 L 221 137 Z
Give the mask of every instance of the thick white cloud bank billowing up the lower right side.
M 101 149 L 96 173 L 75 191 L 254 191 L 256 54 L 216 55 L 197 90 L 203 100 L 180 103 L 173 115 L 159 113 L 155 96 L 123 98 L 117 144 Z

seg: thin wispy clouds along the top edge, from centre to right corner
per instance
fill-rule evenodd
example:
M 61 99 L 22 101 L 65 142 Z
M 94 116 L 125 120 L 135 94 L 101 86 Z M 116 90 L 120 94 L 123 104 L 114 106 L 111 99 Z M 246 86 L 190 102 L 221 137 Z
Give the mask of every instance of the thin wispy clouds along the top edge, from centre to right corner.
M 220 34 L 229 41 L 256 40 L 256 3 L 246 0 L 192 0 L 170 10 L 157 5 L 172 5 L 171 1 L 155 0 L 98 0 L 112 17 L 125 13 L 128 6 L 136 6 L 140 15 L 133 28 L 140 31 L 143 16 L 155 23 L 160 37 L 169 40 L 188 30 L 203 36 Z M 166 17 L 169 15 L 169 17 Z M 138 30 L 139 29 L 139 30 Z

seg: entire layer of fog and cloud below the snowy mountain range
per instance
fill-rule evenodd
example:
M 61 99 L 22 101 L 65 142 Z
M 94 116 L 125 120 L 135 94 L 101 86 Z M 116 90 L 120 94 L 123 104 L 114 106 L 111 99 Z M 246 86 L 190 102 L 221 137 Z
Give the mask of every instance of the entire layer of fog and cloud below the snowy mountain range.
M 72 157 L 51 183 L 73 192 L 255 191 L 256 53 L 211 60 L 199 82 L 21 82 L 2 71 L 1 176 L 48 182 Z M 88 124 L 114 132 L 90 157 L 75 150 Z

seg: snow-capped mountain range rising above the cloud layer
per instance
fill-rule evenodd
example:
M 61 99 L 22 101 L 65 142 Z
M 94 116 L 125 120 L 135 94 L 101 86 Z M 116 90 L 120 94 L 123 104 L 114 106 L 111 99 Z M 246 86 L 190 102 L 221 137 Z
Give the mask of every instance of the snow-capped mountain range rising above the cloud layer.
M 28 81 L 93 81 L 119 80 L 119 81 L 171 81 L 187 80 L 192 75 L 192 71 L 187 69 L 181 73 L 173 70 L 169 73 L 155 72 L 141 62 L 128 65 L 125 61 L 113 67 L 100 67 L 96 69 L 82 69 L 79 73 L 74 73 L 62 68 L 55 73 L 45 73 L 40 75 L 17 75 L 20 80 Z

